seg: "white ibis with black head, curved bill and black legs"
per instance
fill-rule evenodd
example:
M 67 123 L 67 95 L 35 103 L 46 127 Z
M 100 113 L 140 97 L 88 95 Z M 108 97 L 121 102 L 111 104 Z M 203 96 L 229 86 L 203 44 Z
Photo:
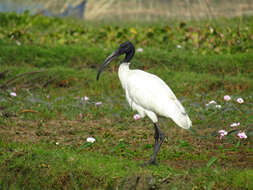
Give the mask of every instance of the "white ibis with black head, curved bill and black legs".
M 153 122 L 155 131 L 153 154 L 143 165 L 157 164 L 156 156 L 165 139 L 165 133 L 158 124 L 158 117 L 171 118 L 183 129 L 190 129 L 192 121 L 180 101 L 162 79 L 154 74 L 129 68 L 134 54 L 135 47 L 130 41 L 120 44 L 119 48 L 99 67 L 97 81 L 101 72 L 113 59 L 125 55 L 118 68 L 118 77 L 125 91 L 126 100 L 141 118 L 147 116 Z

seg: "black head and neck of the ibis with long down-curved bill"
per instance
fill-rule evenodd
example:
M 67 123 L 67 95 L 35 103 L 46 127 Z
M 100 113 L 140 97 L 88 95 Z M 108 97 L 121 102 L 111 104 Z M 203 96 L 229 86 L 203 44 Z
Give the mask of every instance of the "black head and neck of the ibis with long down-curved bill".
M 97 74 L 97 80 L 99 79 L 99 76 L 100 76 L 101 72 L 103 71 L 103 69 L 106 67 L 106 65 L 108 65 L 115 57 L 126 54 L 126 56 L 122 62 L 128 63 L 133 58 L 134 53 L 135 53 L 135 47 L 131 42 L 127 41 L 127 42 L 120 44 L 119 48 L 115 52 L 113 52 L 110 56 L 108 56 L 105 59 L 104 63 L 99 68 L 98 74 Z

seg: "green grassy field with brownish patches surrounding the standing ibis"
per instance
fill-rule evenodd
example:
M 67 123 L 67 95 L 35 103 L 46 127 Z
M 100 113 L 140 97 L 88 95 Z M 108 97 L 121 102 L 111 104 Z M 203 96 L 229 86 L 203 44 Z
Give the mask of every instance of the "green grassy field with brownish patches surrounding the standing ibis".
M 253 189 L 252 19 L 94 24 L 0 14 L 0 189 Z M 193 121 L 187 131 L 160 119 L 158 166 L 140 167 L 153 126 L 133 119 L 119 64 L 96 81 L 125 40 L 143 48 L 131 68 L 160 76 Z

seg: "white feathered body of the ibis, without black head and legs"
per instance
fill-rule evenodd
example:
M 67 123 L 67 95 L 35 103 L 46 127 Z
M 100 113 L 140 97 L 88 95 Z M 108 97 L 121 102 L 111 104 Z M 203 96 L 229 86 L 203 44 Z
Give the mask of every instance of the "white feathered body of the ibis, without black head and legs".
M 130 70 L 130 63 L 122 63 L 118 75 L 126 99 L 141 117 L 148 116 L 154 123 L 158 116 L 171 118 L 178 126 L 189 129 L 192 122 L 172 90 L 156 75 L 142 70 Z

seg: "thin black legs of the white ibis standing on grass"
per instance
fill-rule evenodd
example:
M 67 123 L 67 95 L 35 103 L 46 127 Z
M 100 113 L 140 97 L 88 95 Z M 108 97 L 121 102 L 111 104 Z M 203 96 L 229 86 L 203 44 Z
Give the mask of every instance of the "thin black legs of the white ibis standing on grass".
M 154 145 L 154 152 L 153 155 L 151 156 L 150 160 L 145 163 L 145 165 L 148 164 L 156 164 L 156 155 L 158 151 L 160 150 L 160 147 L 165 139 L 165 134 L 162 132 L 161 129 L 159 129 L 158 124 L 154 123 L 154 128 L 155 128 L 155 145 Z

